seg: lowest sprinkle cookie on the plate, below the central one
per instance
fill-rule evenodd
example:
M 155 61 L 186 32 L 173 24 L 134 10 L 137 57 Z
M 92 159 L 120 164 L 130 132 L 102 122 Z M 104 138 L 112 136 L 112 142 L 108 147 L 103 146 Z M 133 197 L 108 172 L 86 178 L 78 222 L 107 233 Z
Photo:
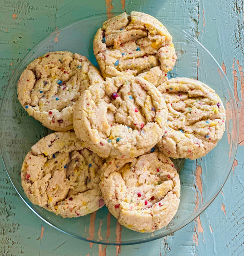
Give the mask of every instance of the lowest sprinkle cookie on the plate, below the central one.
M 179 206 L 179 174 L 161 152 L 107 159 L 100 188 L 108 210 L 119 223 L 139 232 L 168 225 Z

